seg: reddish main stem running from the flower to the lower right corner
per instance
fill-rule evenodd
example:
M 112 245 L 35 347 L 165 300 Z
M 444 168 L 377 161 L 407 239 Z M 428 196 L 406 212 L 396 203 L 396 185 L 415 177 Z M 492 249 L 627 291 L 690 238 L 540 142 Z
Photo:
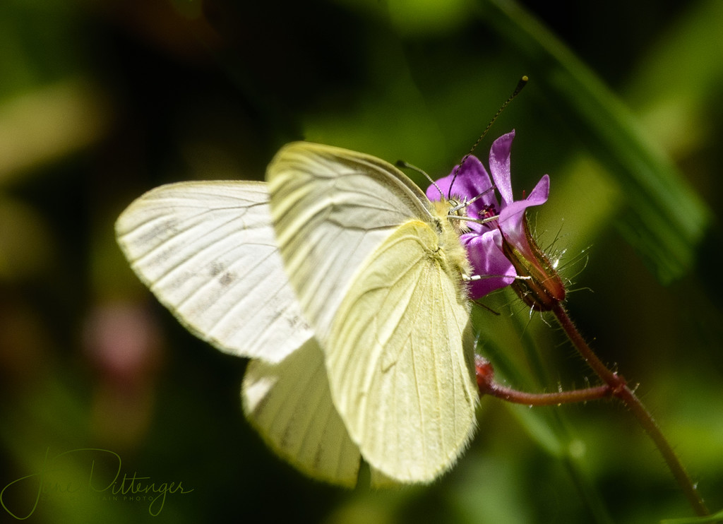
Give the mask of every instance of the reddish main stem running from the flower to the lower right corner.
M 562 304 L 557 303 L 557 305 L 552 308 L 552 312 L 555 314 L 555 317 L 557 317 L 557 322 L 560 323 L 562 330 L 564 330 L 565 334 L 567 334 L 568 338 L 570 338 L 570 342 L 573 343 L 587 364 L 593 371 L 595 371 L 597 376 L 600 377 L 605 384 L 607 384 L 610 394 L 622 400 L 625 406 L 627 406 L 633 415 L 636 416 L 638 422 L 641 426 L 643 426 L 643 429 L 653 440 L 660 454 L 663 456 L 665 463 L 667 463 L 668 468 L 675 477 L 680 489 L 682 489 L 685 496 L 688 497 L 688 502 L 690 502 L 690 506 L 693 507 L 693 511 L 696 512 L 696 515 L 710 515 L 706 504 L 703 502 L 700 492 L 696 488 L 696 484 L 693 484 L 688 472 L 685 471 L 683 464 L 680 462 L 680 458 L 677 457 L 670 443 L 662 434 L 662 431 L 653 416 L 646 409 L 643 403 L 641 403 L 635 392 L 628 387 L 625 379 L 620 374 L 615 373 L 615 371 L 611 371 L 607 366 L 605 366 L 605 364 L 602 363 L 594 351 L 592 351 L 590 346 L 585 342 L 585 339 L 583 339 L 582 335 L 575 327 L 575 324 L 568 316 L 568 312 L 565 311 Z

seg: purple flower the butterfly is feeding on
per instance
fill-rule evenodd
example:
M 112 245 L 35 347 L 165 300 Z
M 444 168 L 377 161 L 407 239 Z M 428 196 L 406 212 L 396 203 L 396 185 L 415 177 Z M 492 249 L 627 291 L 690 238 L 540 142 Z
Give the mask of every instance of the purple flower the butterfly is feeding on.
M 479 197 L 467 207 L 467 215 L 474 219 L 497 217 L 496 220 L 484 224 L 461 222 L 461 226 L 469 227 L 469 232 L 463 233 L 460 240 L 467 250 L 474 275 L 482 276 L 481 280 L 474 280 L 469 286 L 470 297 L 473 299 L 512 284 L 515 276 L 529 276 L 526 270 L 523 271 L 525 275 L 520 275 L 521 264 L 514 255 L 510 257 L 510 252 L 528 260 L 539 257 L 539 248 L 536 244 L 530 244 L 532 239 L 526 227 L 525 210 L 547 202 L 549 176 L 542 176 L 526 199 L 515 201 L 510 177 L 510 147 L 514 138 L 513 130 L 492 144 L 489 171 L 492 172 L 494 186 L 482 162 L 470 155 L 463 160 L 464 165 L 459 169 L 456 178 L 458 166 L 455 166 L 449 176 L 437 180 L 439 189 L 434 185 L 427 189 L 430 200 L 452 197 L 461 202 L 469 202 Z M 454 185 L 450 192 L 451 184 Z M 500 200 L 495 195 L 495 189 L 500 194 Z M 486 275 L 495 276 L 485 278 Z M 564 297 L 564 291 L 562 296 Z

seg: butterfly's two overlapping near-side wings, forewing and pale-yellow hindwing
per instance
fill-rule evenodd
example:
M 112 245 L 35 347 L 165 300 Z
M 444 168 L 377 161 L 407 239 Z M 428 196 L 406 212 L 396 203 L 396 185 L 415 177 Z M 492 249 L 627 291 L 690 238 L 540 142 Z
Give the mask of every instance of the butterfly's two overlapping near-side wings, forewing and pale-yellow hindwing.
M 474 432 L 477 398 L 461 267 L 445 258 L 440 218 L 393 166 L 333 147 L 285 147 L 268 181 L 286 271 L 351 439 L 385 475 L 432 480 Z

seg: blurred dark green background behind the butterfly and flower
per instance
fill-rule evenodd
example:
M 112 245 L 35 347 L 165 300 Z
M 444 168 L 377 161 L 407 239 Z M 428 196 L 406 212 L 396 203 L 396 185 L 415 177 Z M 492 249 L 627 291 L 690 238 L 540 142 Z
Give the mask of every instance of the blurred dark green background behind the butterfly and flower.
M 550 174 L 531 220 L 570 279 L 570 313 L 640 384 L 722 508 L 722 29 L 719 0 L 4 0 L 0 521 L 692 515 L 612 402 L 483 399 L 476 439 L 431 486 L 304 478 L 244 421 L 246 362 L 185 332 L 115 244 L 115 218 L 147 189 L 262 179 L 292 139 L 445 175 L 522 74 L 530 84 L 477 153 L 486 163 L 492 139 L 515 128 L 516 194 Z M 501 314 L 476 312 L 479 351 L 508 385 L 596 384 L 552 319 L 508 293 L 483 302 Z M 124 475 L 173 492 L 159 508 L 88 487 L 116 478 L 119 489 Z

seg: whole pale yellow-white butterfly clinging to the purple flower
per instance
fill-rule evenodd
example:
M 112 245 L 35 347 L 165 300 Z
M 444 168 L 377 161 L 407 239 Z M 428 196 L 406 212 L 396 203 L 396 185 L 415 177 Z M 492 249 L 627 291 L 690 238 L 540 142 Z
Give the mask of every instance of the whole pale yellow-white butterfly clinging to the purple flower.
M 479 394 L 450 214 L 391 164 L 294 142 L 266 183 L 152 189 L 116 222 L 132 269 L 189 331 L 252 358 L 244 413 L 296 468 L 424 483 L 476 426 Z

